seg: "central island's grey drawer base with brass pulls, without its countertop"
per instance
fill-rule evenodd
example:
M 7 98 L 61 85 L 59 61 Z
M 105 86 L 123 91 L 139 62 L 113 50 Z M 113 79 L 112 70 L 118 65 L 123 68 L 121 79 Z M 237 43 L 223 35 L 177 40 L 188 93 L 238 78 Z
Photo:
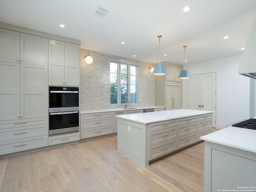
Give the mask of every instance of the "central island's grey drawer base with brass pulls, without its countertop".
M 211 132 L 211 118 L 210 113 L 149 124 L 118 118 L 118 152 L 146 167 L 156 158 L 200 141 L 198 136 Z

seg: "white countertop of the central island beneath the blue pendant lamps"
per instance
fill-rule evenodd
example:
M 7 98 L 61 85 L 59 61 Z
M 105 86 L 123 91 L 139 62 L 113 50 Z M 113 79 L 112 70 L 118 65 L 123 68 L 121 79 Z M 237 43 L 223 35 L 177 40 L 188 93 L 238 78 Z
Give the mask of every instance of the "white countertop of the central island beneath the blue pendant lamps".
M 172 120 L 177 118 L 184 118 L 202 114 L 212 113 L 212 111 L 203 110 L 192 110 L 192 109 L 177 109 L 177 110 L 167 110 L 149 113 L 138 113 L 138 114 L 127 114 L 127 115 L 117 115 L 118 118 L 123 118 L 126 120 L 136 121 L 144 124 Z

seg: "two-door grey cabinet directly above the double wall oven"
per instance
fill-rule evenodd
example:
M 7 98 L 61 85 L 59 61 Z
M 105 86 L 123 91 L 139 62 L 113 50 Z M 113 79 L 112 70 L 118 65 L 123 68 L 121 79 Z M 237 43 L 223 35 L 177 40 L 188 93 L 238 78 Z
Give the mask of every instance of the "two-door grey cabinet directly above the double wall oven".
M 79 86 L 80 46 L 49 39 L 49 85 Z

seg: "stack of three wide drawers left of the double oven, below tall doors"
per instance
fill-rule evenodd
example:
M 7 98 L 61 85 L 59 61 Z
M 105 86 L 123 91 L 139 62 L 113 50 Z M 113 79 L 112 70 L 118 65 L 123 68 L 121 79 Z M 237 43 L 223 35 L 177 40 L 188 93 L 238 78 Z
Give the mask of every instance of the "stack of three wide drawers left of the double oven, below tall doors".
M 48 146 L 48 118 L 0 122 L 0 155 Z

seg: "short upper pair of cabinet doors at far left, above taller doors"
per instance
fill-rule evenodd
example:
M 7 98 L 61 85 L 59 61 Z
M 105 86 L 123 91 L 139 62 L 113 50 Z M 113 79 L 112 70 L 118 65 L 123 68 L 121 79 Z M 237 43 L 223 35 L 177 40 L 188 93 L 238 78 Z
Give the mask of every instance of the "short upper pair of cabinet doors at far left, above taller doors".
M 48 66 L 48 39 L 0 28 L 0 61 Z

